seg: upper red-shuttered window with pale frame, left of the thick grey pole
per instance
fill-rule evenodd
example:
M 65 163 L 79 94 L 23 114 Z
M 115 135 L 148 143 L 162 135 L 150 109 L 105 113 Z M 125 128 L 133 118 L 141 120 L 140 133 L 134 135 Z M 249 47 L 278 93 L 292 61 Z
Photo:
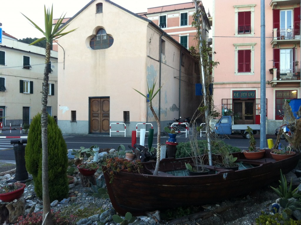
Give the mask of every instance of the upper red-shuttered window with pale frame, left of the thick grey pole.
M 235 11 L 235 36 L 254 36 L 255 6 L 255 4 L 233 6 Z

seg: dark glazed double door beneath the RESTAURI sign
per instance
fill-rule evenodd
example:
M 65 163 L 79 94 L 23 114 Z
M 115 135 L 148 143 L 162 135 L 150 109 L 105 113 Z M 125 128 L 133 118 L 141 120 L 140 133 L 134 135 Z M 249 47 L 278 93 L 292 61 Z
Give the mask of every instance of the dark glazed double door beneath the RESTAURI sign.
M 234 124 L 255 124 L 255 101 L 233 100 Z

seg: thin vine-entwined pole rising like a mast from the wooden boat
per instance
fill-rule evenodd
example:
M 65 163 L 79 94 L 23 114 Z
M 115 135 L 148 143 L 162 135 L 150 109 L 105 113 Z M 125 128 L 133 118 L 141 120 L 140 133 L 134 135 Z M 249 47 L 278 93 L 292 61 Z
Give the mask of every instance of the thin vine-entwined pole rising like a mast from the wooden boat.
M 195 5 L 195 12 L 198 15 L 199 11 L 199 5 L 197 4 L 197 0 L 194 0 L 194 5 Z M 200 20 L 199 17 L 202 14 L 200 13 L 198 15 L 198 19 L 197 19 L 197 29 L 200 29 Z M 203 104 L 204 104 L 204 109 L 205 109 L 205 124 L 206 124 L 206 137 L 207 137 L 207 144 L 208 144 L 208 151 L 209 151 L 209 165 L 212 166 L 212 153 L 211 153 L 211 140 L 210 140 L 210 130 L 209 130 L 209 121 L 208 121 L 208 107 L 207 107 L 207 90 L 206 90 L 206 81 L 205 81 L 205 71 L 204 71 L 204 66 L 203 66 L 203 57 L 202 57 L 202 47 L 203 47 L 203 43 L 202 43 L 202 36 L 201 33 L 199 33 L 200 35 L 200 44 L 199 44 L 199 52 L 200 52 L 200 66 L 201 66 L 201 73 L 202 73 L 202 89 L 203 89 Z

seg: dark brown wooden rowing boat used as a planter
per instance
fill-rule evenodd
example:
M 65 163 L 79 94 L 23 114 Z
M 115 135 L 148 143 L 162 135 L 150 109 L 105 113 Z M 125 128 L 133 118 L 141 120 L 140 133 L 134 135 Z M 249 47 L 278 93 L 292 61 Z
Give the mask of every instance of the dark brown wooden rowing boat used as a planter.
M 185 163 L 191 158 L 167 158 L 160 161 L 158 176 L 153 171 L 156 162 L 142 163 L 143 173 L 121 171 L 114 175 L 110 184 L 107 168 L 103 166 L 108 193 L 114 209 L 122 215 L 127 212 L 134 216 L 146 211 L 187 207 L 220 202 L 229 198 L 248 195 L 251 191 L 277 181 L 280 170 L 293 170 L 300 158 L 296 154 L 288 159 L 272 159 L 270 150 L 259 160 L 248 160 L 243 153 L 234 153 L 240 170 L 227 170 L 208 166 L 215 174 L 200 176 L 175 176 L 176 171 L 185 170 Z M 132 196 L 136 196 L 133 198 Z

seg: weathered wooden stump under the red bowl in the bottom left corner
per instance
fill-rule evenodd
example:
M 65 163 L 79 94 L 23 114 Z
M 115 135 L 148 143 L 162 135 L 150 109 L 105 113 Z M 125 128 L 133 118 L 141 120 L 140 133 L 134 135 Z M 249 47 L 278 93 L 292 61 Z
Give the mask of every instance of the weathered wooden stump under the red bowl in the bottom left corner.
M 25 212 L 25 200 L 23 195 L 16 202 L 2 202 L 0 204 L 0 223 L 5 221 L 8 223 L 17 223 L 19 216 L 23 216 Z

